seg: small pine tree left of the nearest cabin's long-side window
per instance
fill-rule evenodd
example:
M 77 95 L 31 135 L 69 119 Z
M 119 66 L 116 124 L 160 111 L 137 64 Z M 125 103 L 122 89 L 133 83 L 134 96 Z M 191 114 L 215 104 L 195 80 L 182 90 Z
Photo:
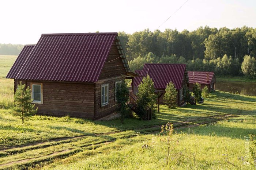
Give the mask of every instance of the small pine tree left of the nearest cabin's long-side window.
M 15 105 L 14 110 L 18 115 L 22 116 L 22 123 L 24 123 L 24 117 L 32 116 L 37 112 L 37 109 L 34 109 L 35 105 L 31 104 L 31 94 L 29 86 L 26 88 L 26 85 L 20 82 L 16 93 L 14 95 Z

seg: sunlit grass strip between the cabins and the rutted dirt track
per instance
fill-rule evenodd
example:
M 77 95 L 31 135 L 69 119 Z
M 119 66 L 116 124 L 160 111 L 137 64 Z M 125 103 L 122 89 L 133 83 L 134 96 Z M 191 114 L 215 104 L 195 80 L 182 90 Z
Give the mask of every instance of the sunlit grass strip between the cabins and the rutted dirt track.
M 25 119 L 22 124 L 20 117 L 14 116 L 12 109 L 0 109 L 0 149 L 11 146 L 22 146 L 34 142 L 44 142 L 50 139 L 93 135 L 99 133 L 134 130 L 138 132 L 152 131 L 151 127 L 166 124 L 191 121 L 195 123 L 210 123 L 219 120 L 219 116 L 256 115 L 256 97 L 241 96 L 216 91 L 205 99 L 204 104 L 188 105 L 177 109 L 169 109 L 161 105 L 157 119 L 142 121 L 136 118 L 120 120 L 91 121 L 72 117 L 51 117 L 35 115 Z

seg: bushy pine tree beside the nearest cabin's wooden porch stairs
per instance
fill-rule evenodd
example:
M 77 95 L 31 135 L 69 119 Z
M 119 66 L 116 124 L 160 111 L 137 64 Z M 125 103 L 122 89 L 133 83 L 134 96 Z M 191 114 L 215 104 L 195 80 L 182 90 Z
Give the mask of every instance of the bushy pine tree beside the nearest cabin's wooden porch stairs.
M 155 113 L 157 112 L 155 107 L 157 94 L 155 94 L 154 82 L 148 75 L 147 77 L 143 77 L 142 82 L 138 86 L 138 91 L 138 100 L 136 101 L 137 115 L 143 120 L 146 120 L 146 109 L 149 107 L 152 109 L 152 118 L 155 118 Z

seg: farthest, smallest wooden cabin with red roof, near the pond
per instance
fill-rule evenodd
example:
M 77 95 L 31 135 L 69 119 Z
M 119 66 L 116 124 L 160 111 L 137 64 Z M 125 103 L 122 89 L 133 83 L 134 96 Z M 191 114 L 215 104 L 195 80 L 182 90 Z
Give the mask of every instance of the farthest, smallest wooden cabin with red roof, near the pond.
M 209 91 L 215 90 L 216 78 L 214 72 L 188 71 L 189 90 L 193 90 L 194 84 L 201 84 L 201 89 L 206 85 Z

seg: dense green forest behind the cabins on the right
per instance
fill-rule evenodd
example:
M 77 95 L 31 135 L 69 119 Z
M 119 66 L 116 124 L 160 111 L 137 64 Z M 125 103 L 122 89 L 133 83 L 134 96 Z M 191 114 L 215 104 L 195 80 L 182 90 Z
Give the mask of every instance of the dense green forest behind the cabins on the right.
M 256 76 L 256 28 L 199 27 L 195 31 L 166 29 L 118 33 L 132 71 L 144 63 L 187 63 L 188 70 L 218 75 Z M 143 40 L 143 41 L 142 41 Z M 141 43 L 140 43 L 141 42 Z M 242 69 L 242 62 L 244 69 Z

